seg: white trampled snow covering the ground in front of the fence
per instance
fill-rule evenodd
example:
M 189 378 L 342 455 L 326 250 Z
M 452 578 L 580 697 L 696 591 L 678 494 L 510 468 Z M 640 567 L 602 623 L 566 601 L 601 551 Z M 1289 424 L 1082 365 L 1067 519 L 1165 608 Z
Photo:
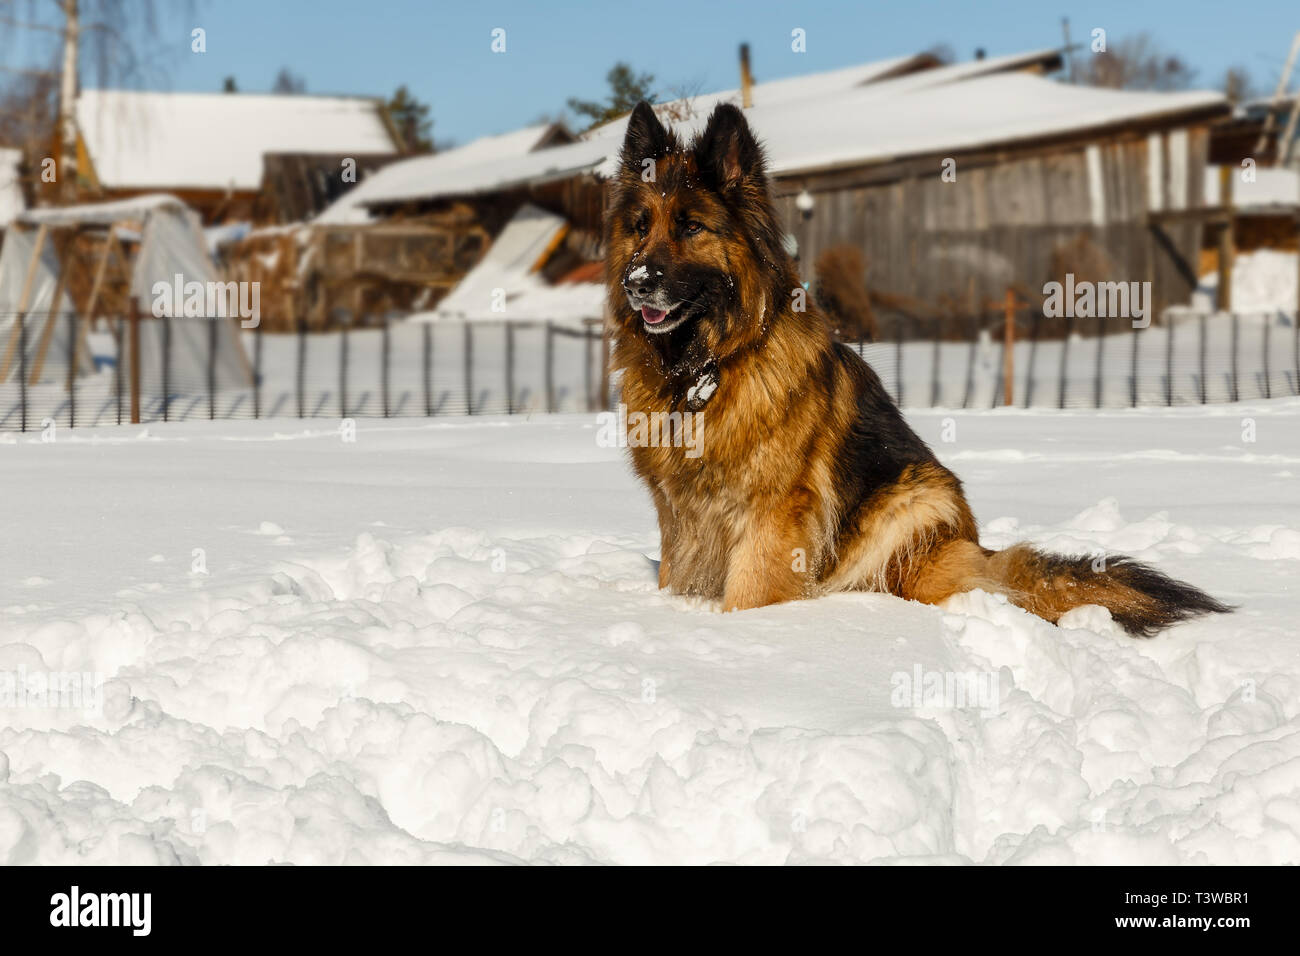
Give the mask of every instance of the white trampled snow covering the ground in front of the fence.
M 718 614 L 588 415 L 4 434 L 0 862 L 1300 862 L 1300 401 L 909 418 L 1240 610 Z

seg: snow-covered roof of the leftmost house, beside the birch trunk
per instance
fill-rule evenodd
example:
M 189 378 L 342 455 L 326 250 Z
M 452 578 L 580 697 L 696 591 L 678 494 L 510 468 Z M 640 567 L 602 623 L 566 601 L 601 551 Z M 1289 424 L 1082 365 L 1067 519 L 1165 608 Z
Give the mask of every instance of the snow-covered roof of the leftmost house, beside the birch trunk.
M 84 90 L 77 125 L 109 189 L 255 190 L 268 152 L 396 151 L 361 98 Z

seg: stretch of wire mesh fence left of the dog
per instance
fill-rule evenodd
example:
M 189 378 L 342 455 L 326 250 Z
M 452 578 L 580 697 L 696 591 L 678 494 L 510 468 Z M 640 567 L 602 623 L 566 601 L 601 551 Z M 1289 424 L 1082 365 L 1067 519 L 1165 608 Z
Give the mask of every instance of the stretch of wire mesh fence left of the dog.
M 130 421 L 399 418 L 588 411 L 601 397 L 598 330 L 556 323 L 404 323 L 273 334 L 233 320 L 10 316 L 0 431 Z M 65 328 L 65 358 L 34 341 Z M 135 343 L 133 346 L 133 336 Z M 62 345 L 60 346 L 62 349 Z M 88 373 L 68 375 L 74 350 Z M 138 355 L 138 373 L 131 355 Z M 48 356 L 47 356 L 48 358 Z M 78 368 L 82 371 L 82 368 Z

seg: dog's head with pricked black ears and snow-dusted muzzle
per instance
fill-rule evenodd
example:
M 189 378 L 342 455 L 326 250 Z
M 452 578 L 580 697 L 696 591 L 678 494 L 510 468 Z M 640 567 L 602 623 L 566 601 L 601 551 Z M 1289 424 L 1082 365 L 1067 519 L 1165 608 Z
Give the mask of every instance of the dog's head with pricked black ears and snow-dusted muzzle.
M 606 220 L 618 334 L 671 376 L 757 341 L 794 284 L 763 151 L 733 105 L 689 146 L 647 103 L 628 121 Z

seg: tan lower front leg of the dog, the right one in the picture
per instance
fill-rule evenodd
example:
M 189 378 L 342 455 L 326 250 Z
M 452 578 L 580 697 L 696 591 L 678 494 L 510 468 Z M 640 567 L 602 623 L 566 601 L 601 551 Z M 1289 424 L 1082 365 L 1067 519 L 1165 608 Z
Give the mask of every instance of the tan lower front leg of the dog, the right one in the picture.
M 789 499 L 755 502 L 727 559 L 723 610 L 764 607 L 809 593 L 809 533 Z

